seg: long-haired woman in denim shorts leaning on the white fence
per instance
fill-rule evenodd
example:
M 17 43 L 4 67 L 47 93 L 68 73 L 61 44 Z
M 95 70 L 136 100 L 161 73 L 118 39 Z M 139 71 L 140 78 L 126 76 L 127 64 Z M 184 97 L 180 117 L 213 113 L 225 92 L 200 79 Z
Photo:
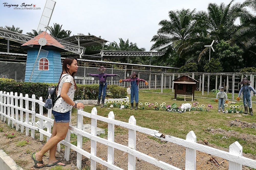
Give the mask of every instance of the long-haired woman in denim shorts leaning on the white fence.
M 77 72 L 77 69 L 77 59 L 67 57 L 64 60 L 59 80 L 59 87 L 57 88 L 57 96 L 60 95 L 60 98 L 55 102 L 54 107 L 52 108 L 52 113 L 54 115 L 52 135 L 44 147 L 39 152 L 32 153 L 31 156 L 36 168 L 44 167 L 42 157 L 48 150 L 50 151 L 50 156 L 49 162 L 46 166 L 65 166 L 64 163 L 58 161 L 55 157 L 57 143 L 66 138 L 72 107 L 84 108 L 83 103 L 76 103 L 73 101 L 74 92 L 77 88 L 73 77 Z M 63 76 L 65 77 L 61 79 Z

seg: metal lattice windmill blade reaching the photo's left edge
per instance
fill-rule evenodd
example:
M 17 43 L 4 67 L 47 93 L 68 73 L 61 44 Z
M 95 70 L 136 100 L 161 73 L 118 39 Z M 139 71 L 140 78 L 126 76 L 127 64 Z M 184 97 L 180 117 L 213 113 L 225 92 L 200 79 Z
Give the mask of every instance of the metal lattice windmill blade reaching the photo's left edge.
M 30 36 L 20 34 L 20 33 L 17 33 L 17 32 L 13 32 L 13 31 L 10 31 L 10 30 L 2 29 L 2 28 L 0 28 L 0 37 L 9 39 L 11 41 L 18 42 L 20 44 L 24 44 L 27 41 L 33 39 Z M 33 47 L 33 44 L 28 45 L 28 46 Z

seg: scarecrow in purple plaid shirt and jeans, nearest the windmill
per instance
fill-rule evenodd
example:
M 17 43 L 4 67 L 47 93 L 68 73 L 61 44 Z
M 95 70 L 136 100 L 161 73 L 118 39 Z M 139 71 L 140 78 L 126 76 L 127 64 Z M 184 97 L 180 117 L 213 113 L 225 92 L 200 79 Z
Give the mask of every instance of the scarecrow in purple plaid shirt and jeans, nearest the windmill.
M 105 74 L 104 71 L 107 68 L 105 68 L 104 66 L 100 66 L 100 68 L 98 68 L 98 71 L 101 72 L 101 74 L 89 74 L 90 76 L 93 77 L 99 77 L 99 95 L 98 95 L 98 102 L 97 104 L 95 104 L 95 106 L 99 106 L 100 105 L 100 98 L 101 98 L 101 93 L 102 93 L 102 100 L 101 100 L 101 106 L 100 107 L 104 107 L 104 101 L 105 101 L 105 97 L 106 97 L 106 88 L 107 88 L 107 77 L 112 77 L 112 76 L 117 76 L 118 74 Z

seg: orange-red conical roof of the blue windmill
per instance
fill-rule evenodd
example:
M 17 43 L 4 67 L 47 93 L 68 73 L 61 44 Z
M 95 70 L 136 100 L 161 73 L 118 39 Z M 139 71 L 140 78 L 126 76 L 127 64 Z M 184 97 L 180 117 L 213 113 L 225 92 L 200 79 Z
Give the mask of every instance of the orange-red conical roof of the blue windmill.
M 31 39 L 29 41 L 27 41 L 26 43 L 22 44 L 21 46 L 24 45 L 39 45 L 38 44 L 38 39 L 44 37 L 45 31 L 42 32 L 41 34 L 38 34 L 37 36 L 35 36 L 34 38 L 36 39 Z M 46 33 L 45 34 L 45 39 L 47 41 L 46 45 L 53 45 L 53 46 L 57 46 L 60 48 L 65 48 L 63 45 L 61 45 L 57 40 L 55 40 L 52 36 L 50 36 L 50 34 Z

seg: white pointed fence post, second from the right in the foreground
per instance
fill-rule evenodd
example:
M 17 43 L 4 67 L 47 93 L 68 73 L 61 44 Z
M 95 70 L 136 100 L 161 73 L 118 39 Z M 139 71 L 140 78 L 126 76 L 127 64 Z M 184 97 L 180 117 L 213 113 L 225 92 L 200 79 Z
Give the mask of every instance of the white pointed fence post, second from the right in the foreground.
M 196 142 L 196 135 L 191 130 L 187 136 L 186 140 L 190 142 Z M 186 163 L 185 163 L 186 170 L 196 170 L 196 150 L 186 148 Z

